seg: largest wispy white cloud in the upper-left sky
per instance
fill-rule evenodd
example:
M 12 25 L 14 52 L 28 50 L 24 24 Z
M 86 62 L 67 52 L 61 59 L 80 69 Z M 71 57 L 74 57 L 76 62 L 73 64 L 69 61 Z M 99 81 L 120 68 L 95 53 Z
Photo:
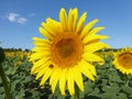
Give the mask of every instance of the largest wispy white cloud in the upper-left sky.
M 20 23 L 20 24 L 25 24 L 28 22 L 28 19 L 21 16 L 19 13 L 9 13 L 7 15 L 7 19 L 10 21 L 10 22 L 16 22 L 16 23 Z

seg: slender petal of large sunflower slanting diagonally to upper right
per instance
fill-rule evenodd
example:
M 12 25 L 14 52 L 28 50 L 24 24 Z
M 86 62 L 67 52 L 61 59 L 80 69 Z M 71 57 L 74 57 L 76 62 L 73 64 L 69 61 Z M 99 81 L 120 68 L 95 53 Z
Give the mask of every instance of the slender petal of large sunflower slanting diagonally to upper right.
M 82 30 L 81 34 L 80 34 L 80 38 L 84 38 L 86 36 L 86 34 L 91 30 L 91 28 L 98 22 L 98 19 L 89 22 L 85 29 Z

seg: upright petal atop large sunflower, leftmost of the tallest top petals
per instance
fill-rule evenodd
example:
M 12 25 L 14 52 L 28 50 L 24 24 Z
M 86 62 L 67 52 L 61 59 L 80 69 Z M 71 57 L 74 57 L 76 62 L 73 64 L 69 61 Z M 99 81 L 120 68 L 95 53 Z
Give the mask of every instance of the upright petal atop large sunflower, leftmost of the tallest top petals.
M 64 8 L 61 9 L 59 20 L 64 30 L 67 30 L 67 14 Z

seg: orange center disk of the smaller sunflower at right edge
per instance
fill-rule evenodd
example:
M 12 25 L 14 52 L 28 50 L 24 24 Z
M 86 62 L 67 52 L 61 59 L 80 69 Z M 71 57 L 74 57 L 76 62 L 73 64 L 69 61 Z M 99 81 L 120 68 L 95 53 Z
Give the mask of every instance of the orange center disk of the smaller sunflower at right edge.
M 132 54 L 123 54 L 120 56 L 119 61 L 125 68 L 132 68 Z

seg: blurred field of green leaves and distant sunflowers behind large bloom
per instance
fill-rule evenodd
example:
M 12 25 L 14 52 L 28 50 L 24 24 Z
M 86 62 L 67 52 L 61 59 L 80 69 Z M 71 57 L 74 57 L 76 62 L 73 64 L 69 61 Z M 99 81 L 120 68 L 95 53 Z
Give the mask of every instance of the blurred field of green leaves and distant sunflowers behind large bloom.
M 118 50 L 98 51 L 105 63 L 92 63 L 97 69 L 95 81 L 84 76 L 84 92 L 79 91 L 80 99 L 132 99 L 132 77 L 123 75 L 113 66 L 113 53 Z M 52 94 L 48 80 L 40 87 L 40 79 L 31 75 L 32 62 L 29 61 L 30 51 L 9 48 L 4 50 L 6 58 L 1 63 L 10 89 L 10 99 L 75 99 L 66 88 L 62 96 L 58 84 L 55 94 Z M 6 92 L 0 79 L 0 99 L 6 99 Z

